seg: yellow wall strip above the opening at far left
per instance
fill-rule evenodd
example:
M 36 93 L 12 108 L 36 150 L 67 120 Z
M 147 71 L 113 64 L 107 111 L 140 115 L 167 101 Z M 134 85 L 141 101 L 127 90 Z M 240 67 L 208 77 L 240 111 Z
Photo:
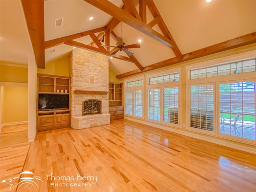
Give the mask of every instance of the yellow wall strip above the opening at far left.
M 28 68 L 3 65 L 1 62 L 0 81 L 28 83 Z

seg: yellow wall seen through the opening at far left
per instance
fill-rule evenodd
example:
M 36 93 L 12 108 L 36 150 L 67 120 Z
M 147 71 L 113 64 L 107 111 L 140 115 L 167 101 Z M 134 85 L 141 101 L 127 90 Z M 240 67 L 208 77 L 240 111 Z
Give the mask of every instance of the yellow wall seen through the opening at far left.
M 28 121 L 28 87 L 2 86 L 1 110 L 1 124 Z

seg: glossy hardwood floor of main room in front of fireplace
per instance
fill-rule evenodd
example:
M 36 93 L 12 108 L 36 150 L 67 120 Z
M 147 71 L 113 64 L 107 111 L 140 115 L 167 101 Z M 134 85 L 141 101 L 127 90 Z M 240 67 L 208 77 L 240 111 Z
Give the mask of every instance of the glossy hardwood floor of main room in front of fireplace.
M 124 119 L 82 130 L 38 132 L 22 171 L 42 178 L 40 192 L 256 189 L 255 154 Z

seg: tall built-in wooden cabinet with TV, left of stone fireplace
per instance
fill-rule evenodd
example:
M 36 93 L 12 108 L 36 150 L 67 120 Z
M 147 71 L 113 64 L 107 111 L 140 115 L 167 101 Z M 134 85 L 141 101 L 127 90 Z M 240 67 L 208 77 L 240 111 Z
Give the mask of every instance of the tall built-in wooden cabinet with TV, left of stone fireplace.
M 37 131 L 70 126 L 70 78 L 38 74 Z

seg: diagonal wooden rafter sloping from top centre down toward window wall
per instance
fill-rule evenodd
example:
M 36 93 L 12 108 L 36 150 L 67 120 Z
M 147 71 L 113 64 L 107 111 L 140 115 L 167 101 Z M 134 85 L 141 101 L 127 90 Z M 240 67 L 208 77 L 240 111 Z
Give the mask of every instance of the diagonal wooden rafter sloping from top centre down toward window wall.
M 176 57 L 181 60 L 182 59 L 182 54 L 176 44 L 176 42 L 174 41 L 174 39 L 172 38 L 172 35 L 170 33 L 170 31 L 168 30 L 168 27 L 166 26 L 162 16 L 160 15 L 160 12 L 158 11 L 156 5 L 154 4 L 153 0 L 147 0 L 146 4 L 148 6 L 148 9 L 150 10 L 152 16 L 154 18 L 158 17 L 159 18 L 159 22 L 158 22 L 158 26 L 160 28 L 160 30 L 162 31 L 162 33 L 164 34 L 164 36 L 168 39 L 170 39 L 172 41 L 172 50 L 174 52 L 174 54 L 176 55 Z

